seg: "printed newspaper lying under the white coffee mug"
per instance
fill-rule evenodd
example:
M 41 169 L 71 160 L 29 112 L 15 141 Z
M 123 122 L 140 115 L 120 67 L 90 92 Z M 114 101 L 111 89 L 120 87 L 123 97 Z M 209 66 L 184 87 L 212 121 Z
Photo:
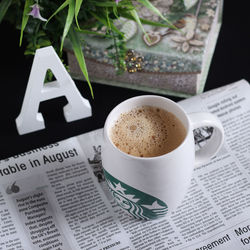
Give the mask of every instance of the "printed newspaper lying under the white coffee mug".
M 136 220 L 112 199 L 102 171 L 102 129 L 0 161 L 0 249 L 250 249 L 250 87 L 241 80 L 180 104 L 210 111 L 225 143 L 194 169 L 164 218 Z M 197 149 L 211 136 L 196 130 Z

